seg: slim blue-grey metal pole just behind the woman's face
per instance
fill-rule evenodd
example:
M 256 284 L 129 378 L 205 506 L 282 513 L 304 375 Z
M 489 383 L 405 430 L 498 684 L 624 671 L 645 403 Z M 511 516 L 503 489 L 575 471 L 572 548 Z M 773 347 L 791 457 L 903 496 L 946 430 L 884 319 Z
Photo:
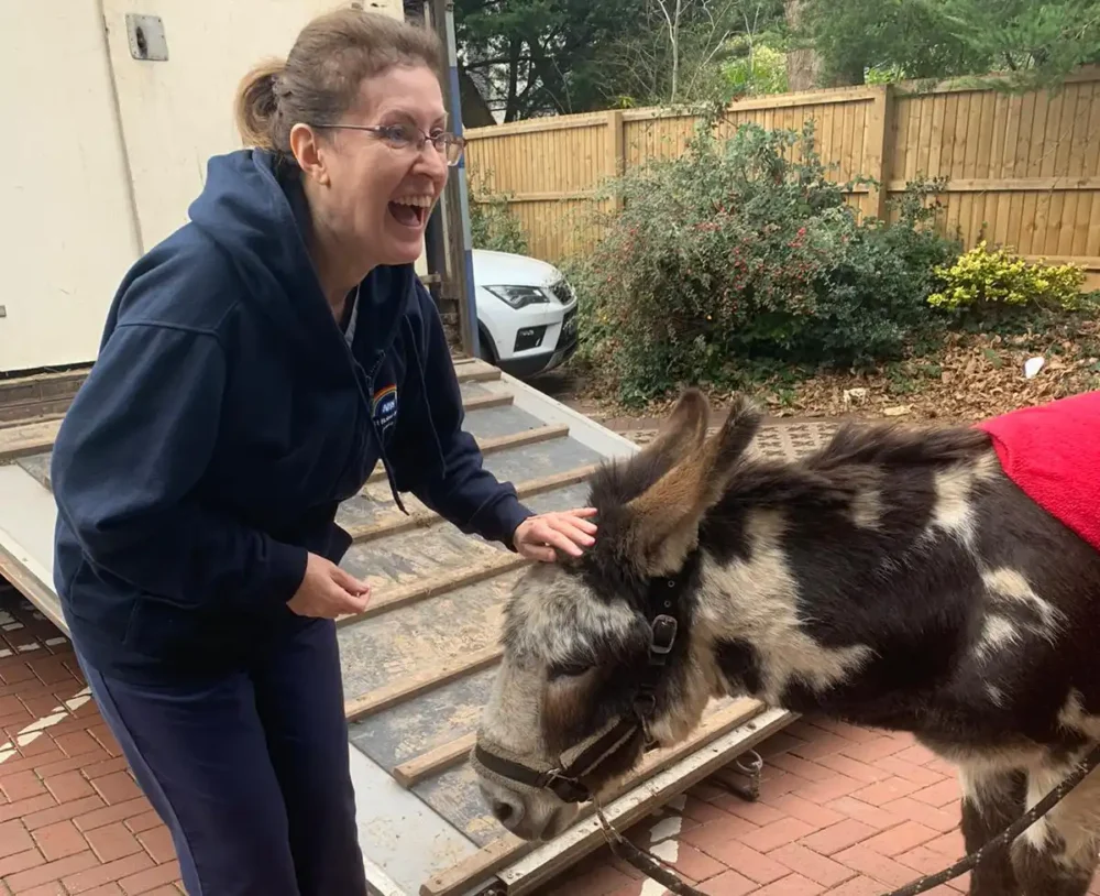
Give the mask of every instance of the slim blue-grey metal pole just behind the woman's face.
M 447 103 L 451 116 L 451 130 L 462 135 L 462 94 L 459 87 L 459 52 L 454 40 L 453 0 L 432 0 L 432 25 L 443 41 L 447 52 Z M 470 196 L 466 190 L 465 156 L 451 172 L 454 187 L 448 198 L 457 199 L 448 209 L 451 245 L 454 249 L 453 284 L 459 299 L 459 321 L 462 350 L 472 358 L 480 351 L 477 339 L 477 304 L 474 293 L 473 237 L 470 230 Z

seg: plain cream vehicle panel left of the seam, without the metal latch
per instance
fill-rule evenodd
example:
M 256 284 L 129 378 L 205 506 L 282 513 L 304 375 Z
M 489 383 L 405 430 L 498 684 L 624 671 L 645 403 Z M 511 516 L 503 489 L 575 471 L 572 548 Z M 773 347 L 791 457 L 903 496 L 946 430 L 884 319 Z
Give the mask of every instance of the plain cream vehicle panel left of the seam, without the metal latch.
M 0 373 L 96 358 L 138 256 L 97 0 L 0 2 Z

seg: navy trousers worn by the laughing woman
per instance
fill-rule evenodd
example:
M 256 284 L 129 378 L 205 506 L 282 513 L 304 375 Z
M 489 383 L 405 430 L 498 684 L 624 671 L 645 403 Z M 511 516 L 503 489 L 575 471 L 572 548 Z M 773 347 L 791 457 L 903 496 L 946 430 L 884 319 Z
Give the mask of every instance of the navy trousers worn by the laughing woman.
M 331 621 L 215 681 L 139 687 L 78 658 L 188 896 L 366 896 Z

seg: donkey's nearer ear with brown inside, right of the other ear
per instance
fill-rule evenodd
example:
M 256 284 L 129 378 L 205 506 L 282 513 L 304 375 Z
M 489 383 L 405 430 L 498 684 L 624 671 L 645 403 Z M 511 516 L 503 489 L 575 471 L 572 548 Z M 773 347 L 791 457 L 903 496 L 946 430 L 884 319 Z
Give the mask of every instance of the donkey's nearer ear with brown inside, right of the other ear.
M 650 576 L 678 571 L 695 546 L 703 514 L 725 493 L 761 415 L 739 396 L 713 438 L 697 444 L 676 466 L 627 504 L 635 562 Z

